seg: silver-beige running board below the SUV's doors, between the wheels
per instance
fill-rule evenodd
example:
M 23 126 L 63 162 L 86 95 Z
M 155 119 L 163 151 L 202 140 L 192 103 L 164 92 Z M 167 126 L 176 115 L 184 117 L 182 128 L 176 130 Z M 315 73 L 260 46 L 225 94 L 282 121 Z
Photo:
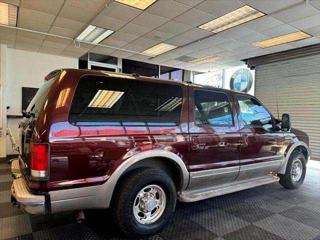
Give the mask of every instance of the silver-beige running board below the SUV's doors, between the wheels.
M 191 190 L 184 190 L 178 194 L 178 199 L 184 202 L 190 201 L 197 201 L 202 200 L 214 196 L 219 196 L 235 191 L 240 191 L 244 189 L 248 189 L 255 186 L 260 186 L 272 182 L 276 182 L 279 180 L 277 175 L 268 175 L 264 178 L 255 178 L 251 181 L 235 181 L 228 184 L 228 185 L 220 185 L 220 186 L 213 186 L 213 187 L 206 187 L 203 189 L 191 189 Z

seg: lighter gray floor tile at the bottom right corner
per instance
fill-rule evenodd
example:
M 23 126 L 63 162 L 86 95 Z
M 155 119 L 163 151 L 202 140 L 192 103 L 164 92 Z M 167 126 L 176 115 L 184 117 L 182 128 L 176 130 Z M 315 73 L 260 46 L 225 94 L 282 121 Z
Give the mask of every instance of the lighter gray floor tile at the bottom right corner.
M 274 214 L 253 224 L 290 240 L 309 240 L 320 234 L 320 230 L 280 214 Z

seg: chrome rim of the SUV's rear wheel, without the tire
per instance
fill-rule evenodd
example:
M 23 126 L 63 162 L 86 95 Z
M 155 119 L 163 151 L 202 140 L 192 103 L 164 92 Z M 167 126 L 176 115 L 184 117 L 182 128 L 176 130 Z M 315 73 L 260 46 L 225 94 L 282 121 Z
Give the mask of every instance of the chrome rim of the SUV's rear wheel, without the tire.
M 143 187 L 134 199 L 133 215 L 142 224 L 156 221 L 165 207 L 165 193 L 158 185 Z

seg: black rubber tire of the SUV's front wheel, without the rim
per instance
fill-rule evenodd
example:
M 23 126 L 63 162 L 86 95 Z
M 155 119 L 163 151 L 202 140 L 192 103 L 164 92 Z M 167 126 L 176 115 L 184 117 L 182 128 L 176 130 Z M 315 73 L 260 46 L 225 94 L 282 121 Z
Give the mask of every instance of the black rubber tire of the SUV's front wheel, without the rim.
M 295 162 L 297 159 L 299 159 L 302 163 L 302 174 L 300 178 L 297 181 L 295 181 L 292 178 L 291 170 L 292 170 L 293 162 Z M 285 173 L 278 174 L 278 176 L 280 177 L 279 183 L 285 188 L 296 189 L 302 184 L 305 177 L 305 172 L 306 172 L 306 161 L 305 161 L 304 155 L 299 151 L 293 151 L 286 164 Z

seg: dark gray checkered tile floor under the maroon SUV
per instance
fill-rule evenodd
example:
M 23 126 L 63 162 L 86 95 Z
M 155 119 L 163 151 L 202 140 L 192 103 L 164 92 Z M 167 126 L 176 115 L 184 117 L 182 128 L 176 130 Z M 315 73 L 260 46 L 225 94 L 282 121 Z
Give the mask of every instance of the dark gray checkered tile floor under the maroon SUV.
M 193 203 L 177 202 L 170 223 L 145 239 L 317 239 L 320 240 L 320 162 L 308 163 L 299 189 L 278 183 Z M 320 165 L 320 164 L 319 164 Z M 129 239 L 108 210 L 27 215 L 12 208 L 10 165 L 0 162 L 0 239 Z

